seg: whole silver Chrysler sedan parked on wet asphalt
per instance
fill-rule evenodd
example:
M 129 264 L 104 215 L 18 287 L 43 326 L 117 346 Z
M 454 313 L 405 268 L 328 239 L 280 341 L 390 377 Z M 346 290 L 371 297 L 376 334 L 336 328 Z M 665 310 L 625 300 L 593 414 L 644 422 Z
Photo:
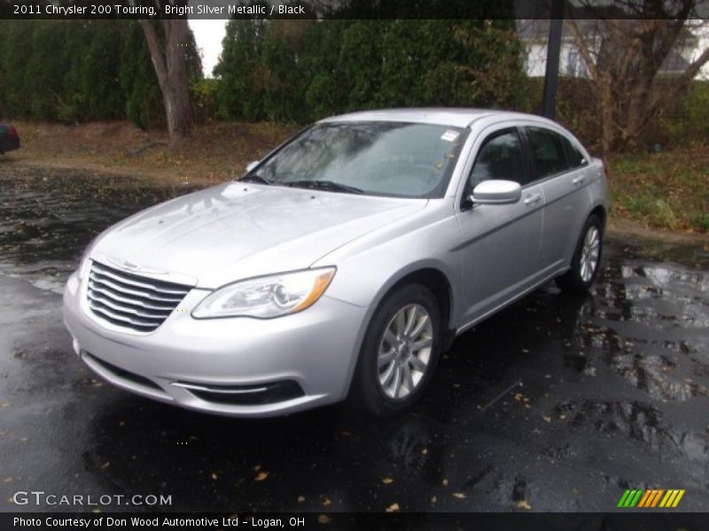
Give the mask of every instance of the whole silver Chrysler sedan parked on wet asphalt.
M 91 369 L 164 402 L 400 412 L 456 335 L 550 279 L 588 289 L 605 217 L 601 161 L 547 119 L 347 114 L 99 235 L 64 319 Z

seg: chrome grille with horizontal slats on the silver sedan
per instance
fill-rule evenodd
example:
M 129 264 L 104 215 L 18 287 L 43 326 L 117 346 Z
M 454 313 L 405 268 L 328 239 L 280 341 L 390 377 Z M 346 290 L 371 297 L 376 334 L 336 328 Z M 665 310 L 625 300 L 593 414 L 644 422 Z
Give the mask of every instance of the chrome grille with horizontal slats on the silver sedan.
M 91 262 L 89 308 L 117 327 L 151 332 L 168 319 L 188 291 L 189 286 L 156 281 Z

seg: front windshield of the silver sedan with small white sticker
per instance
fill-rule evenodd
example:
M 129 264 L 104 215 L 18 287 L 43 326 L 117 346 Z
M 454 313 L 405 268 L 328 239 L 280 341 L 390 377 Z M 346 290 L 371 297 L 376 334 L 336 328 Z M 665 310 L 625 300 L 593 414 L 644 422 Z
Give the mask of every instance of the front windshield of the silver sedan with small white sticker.
M 441 197 L 465 134 L 458 127 L 418 123 L 318 124 L 244 180 L 374 196 Z

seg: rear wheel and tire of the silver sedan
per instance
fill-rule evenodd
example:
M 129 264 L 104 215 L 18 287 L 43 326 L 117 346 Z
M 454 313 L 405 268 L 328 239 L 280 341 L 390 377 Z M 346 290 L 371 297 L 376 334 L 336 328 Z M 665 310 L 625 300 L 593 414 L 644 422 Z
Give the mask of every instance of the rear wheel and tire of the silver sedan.
M 596 281 L 604 246 L 604 224 L 595 214 L 588 216 L 581 230 L 571 267 L 557 277 L 557 286 L 564 291 L 586 293 Z

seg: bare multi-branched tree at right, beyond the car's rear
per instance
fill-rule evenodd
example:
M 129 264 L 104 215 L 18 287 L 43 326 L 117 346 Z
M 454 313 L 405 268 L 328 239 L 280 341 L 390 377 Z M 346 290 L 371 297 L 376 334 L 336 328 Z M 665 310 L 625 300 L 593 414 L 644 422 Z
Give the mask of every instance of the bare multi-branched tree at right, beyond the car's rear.
M 699 42 L 694 32 L 705 25 L 692 19 L 701 2 L 624 0 L 613 8 L 622 9 L 623 19 L 607 18 L 607 9 L 597 12 L 597 19 L 566 19 L 588 66 L 604 153 L 638 147 L 653 119 L 685 93 L 709 61 L 709 49 L 686 57 Z M 597 10 L 587 8 L 587 17 Z

